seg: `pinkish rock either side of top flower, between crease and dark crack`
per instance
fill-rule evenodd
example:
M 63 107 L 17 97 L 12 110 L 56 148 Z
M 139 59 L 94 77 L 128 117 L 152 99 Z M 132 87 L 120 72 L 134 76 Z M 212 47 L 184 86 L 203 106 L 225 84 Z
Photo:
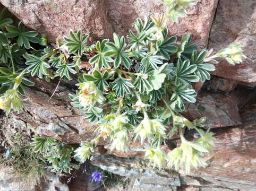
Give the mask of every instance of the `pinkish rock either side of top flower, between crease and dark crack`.
M 217 3 L 217 0 L 197 1 L 197 5 L 189 8 L 187 17 L 181 18 L 178 23 L 169 22 L 169 32 L 179 37 L 185 32 L 192 33 L 194 42 L 199 43 L 201 47 L 206 47 Z M 107 0 L 106 8 L 114 31 L 122 35 L 129 32 L 136 18 L 144 18 L 155 12 L 165 11 L 161 0 Z

